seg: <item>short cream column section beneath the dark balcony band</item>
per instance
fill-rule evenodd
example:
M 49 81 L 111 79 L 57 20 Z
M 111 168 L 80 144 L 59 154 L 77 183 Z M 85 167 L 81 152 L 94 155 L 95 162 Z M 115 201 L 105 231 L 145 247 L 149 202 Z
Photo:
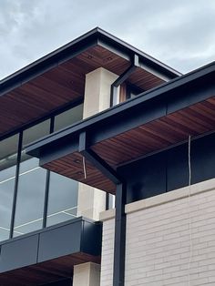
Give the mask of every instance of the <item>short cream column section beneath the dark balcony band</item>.
M 100 265 L 87 262 L 74 266 L 73 286 L 99 286 Z

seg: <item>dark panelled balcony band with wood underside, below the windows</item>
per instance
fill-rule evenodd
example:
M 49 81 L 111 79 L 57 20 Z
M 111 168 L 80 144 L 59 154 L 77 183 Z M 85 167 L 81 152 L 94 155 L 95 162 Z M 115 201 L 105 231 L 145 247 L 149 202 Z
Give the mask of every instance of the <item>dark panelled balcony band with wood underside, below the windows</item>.
M 0 285 L 40 285 L 71 278 L 74 265 L 100 263 L 101 224 L 77 218 L 1 242 Z

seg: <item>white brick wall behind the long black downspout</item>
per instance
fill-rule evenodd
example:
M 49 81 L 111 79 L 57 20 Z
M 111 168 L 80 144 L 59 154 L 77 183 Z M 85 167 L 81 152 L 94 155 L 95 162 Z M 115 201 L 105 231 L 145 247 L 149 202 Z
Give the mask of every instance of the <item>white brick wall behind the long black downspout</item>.
M 192 286 L 215 285 L 215 179 L 207 191 L 201 186 L 192 187 L 197 193 L 190 200 L 152 203 L 128 213 L 126 286 L 186 286 L 189 280 Z M 169 194 L 161 196 L 165 200 Z M 113 219 L 104 221 L 103 231 L 101 286 L 112 286 Z

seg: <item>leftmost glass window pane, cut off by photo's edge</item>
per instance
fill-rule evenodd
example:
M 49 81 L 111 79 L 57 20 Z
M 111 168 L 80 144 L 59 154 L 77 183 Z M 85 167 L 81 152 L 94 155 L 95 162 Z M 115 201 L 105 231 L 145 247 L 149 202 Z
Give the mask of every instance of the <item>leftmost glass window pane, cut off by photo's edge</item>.
M 0 142 L 0 240 L 9 239 L 18 135 Z

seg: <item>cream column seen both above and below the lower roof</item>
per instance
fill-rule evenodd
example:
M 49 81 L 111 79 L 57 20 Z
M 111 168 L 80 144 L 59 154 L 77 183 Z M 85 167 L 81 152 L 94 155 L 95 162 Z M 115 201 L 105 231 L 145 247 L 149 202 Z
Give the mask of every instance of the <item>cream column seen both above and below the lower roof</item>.
M 103 67 L 86 75 L 83 118 L 93 116 L 107 109 L 110 104 L 110 86 L 117 75 Z M 106 193 L 84 184 L 79 184 L 77 215 L 99 220 L 99 213 L 106 209 Z

